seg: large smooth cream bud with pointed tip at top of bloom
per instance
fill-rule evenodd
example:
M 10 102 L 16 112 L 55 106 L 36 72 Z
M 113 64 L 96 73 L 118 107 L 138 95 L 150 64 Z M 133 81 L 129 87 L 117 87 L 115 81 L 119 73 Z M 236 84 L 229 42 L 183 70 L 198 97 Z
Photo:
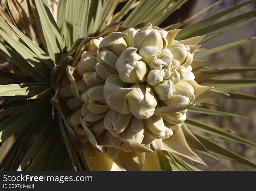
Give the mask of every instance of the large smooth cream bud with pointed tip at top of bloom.
M 147 24 L 134 35 L 133 45 L 138 50 L 146 46 L 155 46 L 161 50 L 163 49 L 163 39 L 159 31 L 152 28 L 152 24 Z

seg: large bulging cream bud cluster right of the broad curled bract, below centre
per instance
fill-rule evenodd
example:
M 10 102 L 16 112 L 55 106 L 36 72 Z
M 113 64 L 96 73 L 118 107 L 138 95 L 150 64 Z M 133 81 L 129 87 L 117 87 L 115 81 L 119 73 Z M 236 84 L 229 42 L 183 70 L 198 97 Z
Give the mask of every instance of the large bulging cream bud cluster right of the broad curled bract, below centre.
M 129 88 L 133 90 L 127 96 L 131 113 L 139 119 L 151 117 L 157 106 L 157 97 L 150 85 L 146 83 L 136 83 Z

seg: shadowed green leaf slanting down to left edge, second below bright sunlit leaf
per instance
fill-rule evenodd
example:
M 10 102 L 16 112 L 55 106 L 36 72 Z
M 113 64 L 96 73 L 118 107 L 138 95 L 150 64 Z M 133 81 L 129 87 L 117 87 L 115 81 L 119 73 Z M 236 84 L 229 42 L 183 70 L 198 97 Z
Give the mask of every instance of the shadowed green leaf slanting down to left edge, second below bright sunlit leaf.
M 6 140 L 8 137 L 13 135 L 15 132 L 19 131 L 22 127 L 26 126 L 27 124 L 29 124 L 30 122 L 35 120 L 37 117 L 42 115 L 42 112 L 44 112 L 45 110 L 49 110 L 49 107 L 32 110 L 28 113 L 25 113 L 24 115 L 22 115 L 20 118 L 16 119 L 15 121 L 12 121 L 12 123 L 9 124 L 8 126 L 6 126 L 4 128 L 2 126 L 0 126 L 0 128 L 1 128 L 0 142 L 2 142 L 3 140 Z M 50 113 L 50 110 L 49 110 L 49 113 Z

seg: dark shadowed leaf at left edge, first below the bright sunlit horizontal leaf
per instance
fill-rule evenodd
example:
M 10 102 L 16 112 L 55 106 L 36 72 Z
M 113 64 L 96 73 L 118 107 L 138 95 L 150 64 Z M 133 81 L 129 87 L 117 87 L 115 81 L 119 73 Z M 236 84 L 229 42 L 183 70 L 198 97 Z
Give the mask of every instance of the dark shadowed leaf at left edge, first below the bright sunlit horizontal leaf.
M 23 113 L 23 112 L 30 111 L 33 109 L 45 107 L 47 104 L 50 104 L 48 99 L 40 99 L 33 103 L 28 103 L 25 105 L 21 105 L 21 106 L 17 106 L 17 107 L 13 107 L 13 108 L 9 108 L 9 109 L 0 111 L 0 116 L 10 115 L 10 114 L 14 114 L 14 113 L 21 113 L 21 112 Z

